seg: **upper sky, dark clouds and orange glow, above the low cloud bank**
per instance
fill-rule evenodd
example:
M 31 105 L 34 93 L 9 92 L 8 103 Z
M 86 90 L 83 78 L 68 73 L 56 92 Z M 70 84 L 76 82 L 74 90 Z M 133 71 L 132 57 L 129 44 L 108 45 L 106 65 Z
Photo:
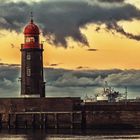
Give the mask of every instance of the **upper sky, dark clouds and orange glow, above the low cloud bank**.
M 40 27 L 44 66 L 140 69 L 139 0 L 1 0 L 0 62 L 20 64 L 23 30 Z

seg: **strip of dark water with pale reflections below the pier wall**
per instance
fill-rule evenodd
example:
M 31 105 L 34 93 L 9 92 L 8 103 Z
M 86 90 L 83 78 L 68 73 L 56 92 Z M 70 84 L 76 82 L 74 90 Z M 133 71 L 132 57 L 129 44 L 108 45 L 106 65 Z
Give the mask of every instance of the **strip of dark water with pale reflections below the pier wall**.
M 11 130 L 0 140 L 140 140 L 140 130 Z

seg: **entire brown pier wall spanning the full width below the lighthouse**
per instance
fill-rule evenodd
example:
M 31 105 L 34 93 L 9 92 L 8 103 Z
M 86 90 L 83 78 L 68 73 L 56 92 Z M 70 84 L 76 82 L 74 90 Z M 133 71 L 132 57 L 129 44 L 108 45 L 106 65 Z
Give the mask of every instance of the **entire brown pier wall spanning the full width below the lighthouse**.
M 0 99 L 0 128 L 140 128 L 140 102 L 83 103 L 80 98 Z

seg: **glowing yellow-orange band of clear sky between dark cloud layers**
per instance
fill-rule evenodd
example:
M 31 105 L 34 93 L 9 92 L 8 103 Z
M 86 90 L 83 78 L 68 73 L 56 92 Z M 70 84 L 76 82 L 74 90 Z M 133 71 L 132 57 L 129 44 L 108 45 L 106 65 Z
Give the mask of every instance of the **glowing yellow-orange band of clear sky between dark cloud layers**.
M 140 21 L 120 22 L 125 31 L 140 33 Z M 102 25 L 103 26 L 103 25 Z M 102 28 L 101 26 L 101 28 Z M 66 69 L 140 69 L 140 42 L 130 40 L 119 33 L 113 35 L 96 25 L 89 24 L 81 32 L 86 35 L 90 46 L 82 46 L 68 38 L 68 48 L 44 43 L 44 66 Z M 24 35 L 14 31 L 0 30 L 1 63 L 20 64 L 20 44 Z M 41 36 L 40 40 L 44 40 Z M 97 51 L 88 51 L 88 49 Z

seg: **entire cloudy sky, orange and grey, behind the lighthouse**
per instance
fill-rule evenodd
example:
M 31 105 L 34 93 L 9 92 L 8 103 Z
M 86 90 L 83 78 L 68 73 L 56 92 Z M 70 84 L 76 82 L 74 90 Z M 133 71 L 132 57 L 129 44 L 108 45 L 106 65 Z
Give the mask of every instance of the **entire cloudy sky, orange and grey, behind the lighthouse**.
M 92 93 L 105 81 L 139 87 L 139 0 L 0 0 L 2 96 L 19 94 L 20 45 L 31 11 L 44 42 L 48 92 Z

